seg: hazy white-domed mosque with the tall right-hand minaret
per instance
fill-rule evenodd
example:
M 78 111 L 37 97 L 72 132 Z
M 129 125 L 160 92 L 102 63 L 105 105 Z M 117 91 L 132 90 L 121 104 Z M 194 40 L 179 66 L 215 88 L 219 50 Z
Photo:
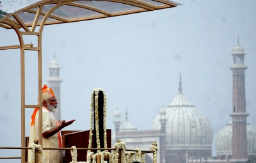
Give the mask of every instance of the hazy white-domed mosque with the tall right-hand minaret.
M 246 100 L 244 71 L 244 49 L 234 47 L 232 121 L 216 136 L 217 157 L 212 157 L 213 130 L 207 117 L 191 104 L 182 93 L 180 77 L 179 93 L 165 108 L 160 109 L 150 130 L 137 130 L 128 121 L 120 121 L 118 110 L 114 114 L 115 132 L 112 142 L 121 139 L 127 148 L 150 150 L 148 146 L 156 142 L 159 147 L 158 162 L 172 163 L 228 163 L 246 162 L 255 155 L 256 130 L 246 123 Z M 148 160 L 152 156 L 148 155 Z

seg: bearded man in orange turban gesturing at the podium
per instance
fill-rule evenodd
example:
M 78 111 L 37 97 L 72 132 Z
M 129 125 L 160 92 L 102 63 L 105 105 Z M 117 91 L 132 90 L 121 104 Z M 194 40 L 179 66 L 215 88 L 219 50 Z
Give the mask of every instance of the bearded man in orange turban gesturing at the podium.
M 71 125 L 75 120 L 56 121 L 52 113 L 57 112 L 57 100 L 51 88 L 44 85 L 42 88 L 42 139 L 43 148 L 62 148 L 62 137 L 60 130 Z M 35 108 L 30 121 L 29 146 L 38 139 L 38 108 Z M 45 163 L 62 163 L 62 150 L 43 150 Z M 31 160 L 31 150 L 28 151 L 28 162 Z

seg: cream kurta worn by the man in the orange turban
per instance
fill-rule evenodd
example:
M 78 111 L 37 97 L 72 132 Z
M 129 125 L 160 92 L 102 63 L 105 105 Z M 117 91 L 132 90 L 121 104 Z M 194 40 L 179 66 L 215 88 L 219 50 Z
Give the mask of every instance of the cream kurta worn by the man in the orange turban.
M 51 113 L 47 111 L 43 107 L 43 118 L 42 118 L 43 124 L 42 124 L 42 133 L 46 132 L 47 130 L 50 130 L 51 128 L 56 127 L 56 124 L 52 118 Z M 29 146 L 31 143 L 33 143 L 33 140 L 30 139 L 30 137 L 35 137 L 38 139 L 38 112 L 36 113 L 35 117 L 35 132 L 33 132 L 33 126 L 31 127 L 30 133 L 29 133 Z M 43 148 L 59 148 L 58 143 L 58 134 L 54 134 L 51 137 L 44 138 L 43 137 Z M 44 152 L 44 162 L 45 163 L 62 163 L 62 150 L 43 150 Z M 31 150 L 29 150 L 28 154 L 28 162 L 31 160 Z

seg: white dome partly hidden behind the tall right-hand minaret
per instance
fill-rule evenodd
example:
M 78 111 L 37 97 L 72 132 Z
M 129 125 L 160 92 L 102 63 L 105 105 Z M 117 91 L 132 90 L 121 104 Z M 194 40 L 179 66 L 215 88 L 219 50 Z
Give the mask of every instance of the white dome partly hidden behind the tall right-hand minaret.
M 232 121 L 227 124 L 216 136 L 217 155 L 232 155 Z M 248 155 L 253 155 L 256 150 L 256 130 L 247 123 L 247 148 Z

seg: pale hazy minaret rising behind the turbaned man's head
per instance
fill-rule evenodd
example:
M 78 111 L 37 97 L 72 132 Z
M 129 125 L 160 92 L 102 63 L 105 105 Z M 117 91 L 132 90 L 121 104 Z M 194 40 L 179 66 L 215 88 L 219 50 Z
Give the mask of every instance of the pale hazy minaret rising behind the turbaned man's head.
M 62 82 L 62 79 L 60 79 L 60 64 L 55 59 L 55 54 L 53 55 L 53 59 L 50 62 L 49 65 L 49 71 L 50 71 L 50 77 L 47 80 L 49 82 L 49 88 L 52 88 L 52 91 L 54 92 L 54 95 L 56 99 L 58 100 L 58 112 L 52 113 L 54 115 L 54 118 L 58 121 L 61 120 L 61 107 L 60 107 L 60 83 Z

